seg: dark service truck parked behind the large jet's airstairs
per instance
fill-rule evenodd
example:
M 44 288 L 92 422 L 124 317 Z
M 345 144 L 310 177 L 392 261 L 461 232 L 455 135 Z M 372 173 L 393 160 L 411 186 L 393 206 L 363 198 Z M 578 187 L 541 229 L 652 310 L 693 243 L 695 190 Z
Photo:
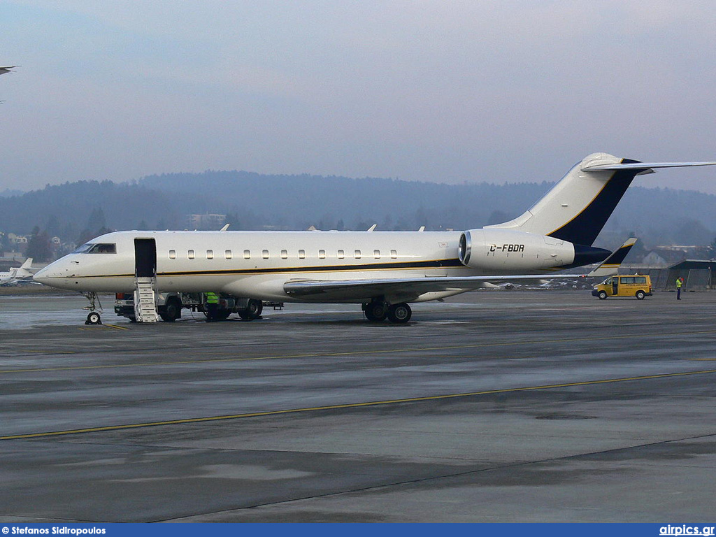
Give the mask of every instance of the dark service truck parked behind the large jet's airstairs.
M 166 322 L 180 319 L 183 309 L 206 314 L 204 293 L 157 293 L 156 304 L 159 316 Z M 238 314 L 241 319 L 252 321 L 261 317 L 261 311 L 263 311 L 263 302 L 260 300 L 238 298 L 226 294 L 219 295 L 217 310 L 219 320 L 228 319 L 231 314 Z M 134 294 L 115 294 L 115 313 L 135 321 Z

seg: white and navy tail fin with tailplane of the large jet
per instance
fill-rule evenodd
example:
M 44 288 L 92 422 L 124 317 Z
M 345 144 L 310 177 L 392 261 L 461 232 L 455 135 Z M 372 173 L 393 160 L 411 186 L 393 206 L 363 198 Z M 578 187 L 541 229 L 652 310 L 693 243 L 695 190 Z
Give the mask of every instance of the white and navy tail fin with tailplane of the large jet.
M 606 153 L 592 153 L 577 163 L 522 216 L 485 226 L 528 231 L 591 246 L 637 175 L 652 168 L 715 165 L 709 163 L 640 163 Z

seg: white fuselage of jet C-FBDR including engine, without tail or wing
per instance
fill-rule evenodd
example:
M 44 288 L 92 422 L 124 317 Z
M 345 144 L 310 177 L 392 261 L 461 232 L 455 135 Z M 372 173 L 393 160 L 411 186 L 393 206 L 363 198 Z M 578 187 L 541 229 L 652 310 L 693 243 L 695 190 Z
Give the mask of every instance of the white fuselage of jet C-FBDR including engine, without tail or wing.
M 470 233 L 470 255 L 460 241 Z M 511 230 L 418 231 L 118 231 L 51 263 L 35 279 L 77 291 L 135 289 L 135 242 L 153 243 L 157 291 L 221 291 L 275 301 L 366 301 L 361 293 L 291 296 L 287 281 L 361 281 L 483 274 L 541 274 L 574 262 L 566 241 Z M 109 245 L 112 245 L 111 247 Z M 150 246 L 151 247 L 151 246 Z M 462 248 L 465 248 L 463 241 Z M 87 251 L 89 250 L 89 251 Z M 605 251 L 606 252 L 606 251 Z M 135 255 L 136 253 L 136 255 Z M 608 253 L 608 252 L 606 252 Z M 153 259 L 149 260 L 150 263 Z M 589 261 L 591 262 L 591 261 Z M 423 293 L 434 300 L 468 289 Z

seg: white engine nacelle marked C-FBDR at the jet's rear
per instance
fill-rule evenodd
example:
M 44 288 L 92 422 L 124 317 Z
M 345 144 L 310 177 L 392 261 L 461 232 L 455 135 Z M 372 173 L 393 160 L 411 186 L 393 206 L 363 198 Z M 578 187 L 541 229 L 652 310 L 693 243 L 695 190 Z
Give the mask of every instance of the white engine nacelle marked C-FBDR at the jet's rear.
M 471 269 L 492 274 L 543 271 L 574 261 L 574 246 L 543 235 L 511 229 L 471 229 L 460 236 L 458 258 Z

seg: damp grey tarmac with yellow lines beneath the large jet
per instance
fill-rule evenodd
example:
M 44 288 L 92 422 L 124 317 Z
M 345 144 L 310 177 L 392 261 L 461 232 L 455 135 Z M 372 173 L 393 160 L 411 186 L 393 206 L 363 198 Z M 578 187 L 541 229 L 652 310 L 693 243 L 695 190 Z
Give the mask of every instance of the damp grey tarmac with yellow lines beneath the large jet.
M 675 298 L 86 326 L 0 296 L 0 523 L 713 521 L 716 294 Z

